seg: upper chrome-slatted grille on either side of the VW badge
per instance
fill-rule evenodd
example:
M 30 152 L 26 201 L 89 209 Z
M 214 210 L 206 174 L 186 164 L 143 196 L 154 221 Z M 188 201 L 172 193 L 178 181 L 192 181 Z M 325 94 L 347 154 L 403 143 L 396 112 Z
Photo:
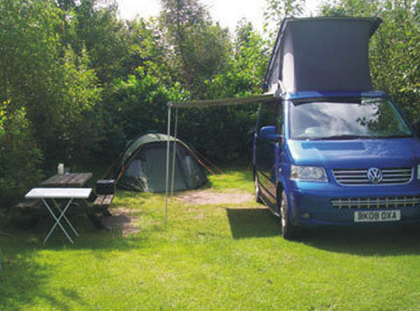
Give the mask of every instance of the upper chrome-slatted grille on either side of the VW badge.
M 382 180 L 373 184 L 367 178 L 366 170 L 332 170 L 334 178 L 340 185 L 360 186 L 360 185 L 397 185 L 408 184 L 413 177 L 412 167 L 384 168 L 381 169 Z

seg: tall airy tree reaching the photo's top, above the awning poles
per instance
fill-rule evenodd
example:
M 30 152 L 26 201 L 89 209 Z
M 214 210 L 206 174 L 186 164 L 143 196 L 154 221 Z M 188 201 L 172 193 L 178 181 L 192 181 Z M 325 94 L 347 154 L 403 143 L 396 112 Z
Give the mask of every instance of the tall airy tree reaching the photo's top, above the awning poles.
M 200 97 L 204 80 L 228 61 L 228 29 L 214 25 L 204 6 L 196 0 L 161 0 L 160 25 L 167 41 L 167 63 L 177 79 Z M 172 52 L 172 53 L 171 53 Z

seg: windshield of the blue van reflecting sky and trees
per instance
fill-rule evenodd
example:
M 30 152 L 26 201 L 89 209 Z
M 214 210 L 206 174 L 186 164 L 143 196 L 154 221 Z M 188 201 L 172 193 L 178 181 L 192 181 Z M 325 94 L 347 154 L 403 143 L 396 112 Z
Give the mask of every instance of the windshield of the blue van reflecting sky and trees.
M 389 99 L 361 97 L 290 104 L 291 139 L 412 137 Z

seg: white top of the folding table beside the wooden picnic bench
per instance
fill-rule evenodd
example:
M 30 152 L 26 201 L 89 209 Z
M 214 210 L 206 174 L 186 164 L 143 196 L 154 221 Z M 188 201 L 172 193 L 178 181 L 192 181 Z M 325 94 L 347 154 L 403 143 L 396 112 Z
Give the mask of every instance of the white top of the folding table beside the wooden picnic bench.
M 27 199 L 87 199 L 92 188 L 33 188 Z

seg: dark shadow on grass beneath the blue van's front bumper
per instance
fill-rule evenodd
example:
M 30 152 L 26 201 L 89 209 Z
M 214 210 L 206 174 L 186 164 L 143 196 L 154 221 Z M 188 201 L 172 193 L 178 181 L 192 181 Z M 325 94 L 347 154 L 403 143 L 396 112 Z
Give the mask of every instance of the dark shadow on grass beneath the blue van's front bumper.
M 319 228 L 304 230 L 300 242 L 317 249 L 358 256 L 416 255 L 420 254 L 420 228 Z

